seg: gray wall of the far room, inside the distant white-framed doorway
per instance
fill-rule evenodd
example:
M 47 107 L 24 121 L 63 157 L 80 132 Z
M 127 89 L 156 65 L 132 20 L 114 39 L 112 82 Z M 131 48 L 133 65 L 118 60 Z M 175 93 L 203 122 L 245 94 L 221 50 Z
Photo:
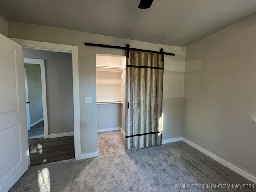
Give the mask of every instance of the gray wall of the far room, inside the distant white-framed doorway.
M 41 68 L 39 64 L 26 64 L 30 125 L 43 118 Z

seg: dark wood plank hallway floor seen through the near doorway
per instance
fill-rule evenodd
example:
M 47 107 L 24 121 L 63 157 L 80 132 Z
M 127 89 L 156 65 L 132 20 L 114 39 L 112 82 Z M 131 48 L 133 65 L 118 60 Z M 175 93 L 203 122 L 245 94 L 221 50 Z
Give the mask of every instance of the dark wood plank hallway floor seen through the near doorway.
M 74 136 L 29 139 L 30 166 L 75 158 Z

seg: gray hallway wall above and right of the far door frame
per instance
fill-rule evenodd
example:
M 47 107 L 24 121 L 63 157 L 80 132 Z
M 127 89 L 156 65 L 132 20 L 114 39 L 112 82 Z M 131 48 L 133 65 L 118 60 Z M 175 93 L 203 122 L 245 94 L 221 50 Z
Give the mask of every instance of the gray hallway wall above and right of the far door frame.
M 48 134 L 74 132 L 72 54 L 23 49 L 23 56 L 45 62 Z

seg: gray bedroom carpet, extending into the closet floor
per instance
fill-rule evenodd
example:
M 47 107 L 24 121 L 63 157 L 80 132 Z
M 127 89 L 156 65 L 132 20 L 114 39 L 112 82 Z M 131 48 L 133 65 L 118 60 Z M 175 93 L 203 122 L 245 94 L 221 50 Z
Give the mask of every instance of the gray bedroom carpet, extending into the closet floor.
M 121 132 L 98 134 L 99 156 L 32 166 L 10 192 L 255 191 L 198 189 L 193 184 L 253 184 L 180 141 L 124 151 Z M 174 184 L 190 184 L 175 189 Z

